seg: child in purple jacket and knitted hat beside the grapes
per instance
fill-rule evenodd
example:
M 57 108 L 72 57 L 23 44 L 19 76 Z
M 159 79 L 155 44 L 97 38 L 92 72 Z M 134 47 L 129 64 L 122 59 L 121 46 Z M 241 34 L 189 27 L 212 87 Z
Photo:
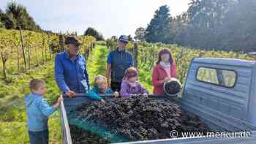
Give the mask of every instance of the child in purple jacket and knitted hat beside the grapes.
M 135 67 L 129 67 L 124 73 L 124 80 L 121 83 L 120 95 L 129 97 L 131 94 L 148 95 L 148 91 L 138 80 L 138 71 Z

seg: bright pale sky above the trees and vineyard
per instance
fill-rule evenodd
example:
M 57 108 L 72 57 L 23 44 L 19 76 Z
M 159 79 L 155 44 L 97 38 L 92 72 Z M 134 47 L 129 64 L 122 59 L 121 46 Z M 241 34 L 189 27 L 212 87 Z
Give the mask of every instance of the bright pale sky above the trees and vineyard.
M 154 12 L 167 4 L 172 16 L 186 12 L 190 0 L 14 0 L 22 4 L 41 29 L 55 32 L 77 31 L 88 27 L 105 38 L 121 34 L 132 36 L 139 27 L 150 23 Z M 1 0 L 5 10 L 10 0 Z

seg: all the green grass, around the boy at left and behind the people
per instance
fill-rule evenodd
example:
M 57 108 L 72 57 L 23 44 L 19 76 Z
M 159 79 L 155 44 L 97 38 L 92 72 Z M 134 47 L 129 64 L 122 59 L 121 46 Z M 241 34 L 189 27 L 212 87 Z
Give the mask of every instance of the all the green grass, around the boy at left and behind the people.
M 87 62 L 91 86 L 96 75 L 105 75 L 108 49 L 97 45 Z M 56 102 L 60 91 L 53 77 L 53 61 L 37 67 L 23 75 L 11 75 L 10 83 L 0 80 L 0 144 L 29 143 L 26 128 L 26 112 L 23 98 L 29 94 L 29 80 L 42 78 L 48 87 L 47 99 L 50 104 Z M 151 72 L 140 69 L 140 81 L 151 91 Z M 49 118 L 50 143 L 61 143 L 59 111 Z

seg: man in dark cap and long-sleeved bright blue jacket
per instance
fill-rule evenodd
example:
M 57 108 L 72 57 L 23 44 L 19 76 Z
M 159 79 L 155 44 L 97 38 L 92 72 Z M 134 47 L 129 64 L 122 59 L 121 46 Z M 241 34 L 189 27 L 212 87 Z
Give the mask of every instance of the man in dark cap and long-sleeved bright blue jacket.
M 65 39 L 67 49 L 58 53 L 55 58 L 56 83 L 61 91 L 71 98 L 78 93 L 87 93 L 90 88 L 86 60 L 78 53 L 79 45 L 77 37 L 67 37 Z

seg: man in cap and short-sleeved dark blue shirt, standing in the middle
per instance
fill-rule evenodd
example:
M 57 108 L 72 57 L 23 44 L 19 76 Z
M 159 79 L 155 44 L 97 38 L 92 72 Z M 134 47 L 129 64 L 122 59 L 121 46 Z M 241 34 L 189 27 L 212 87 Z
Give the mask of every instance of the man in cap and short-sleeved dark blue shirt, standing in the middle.
M 132 54 L 125 50 L 128 42 L 128 37 L 121 35 L 118 39 L 116 50 L 113 50 L 108 54 L 106 77 L 108 79 L 108 84 L 113 91 L 120 91 L 124 72 L 129 67 L 134 66 Z

